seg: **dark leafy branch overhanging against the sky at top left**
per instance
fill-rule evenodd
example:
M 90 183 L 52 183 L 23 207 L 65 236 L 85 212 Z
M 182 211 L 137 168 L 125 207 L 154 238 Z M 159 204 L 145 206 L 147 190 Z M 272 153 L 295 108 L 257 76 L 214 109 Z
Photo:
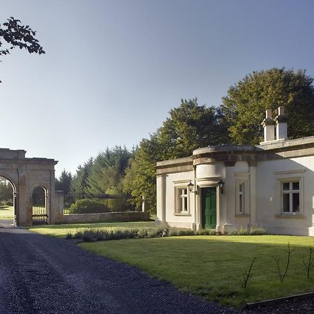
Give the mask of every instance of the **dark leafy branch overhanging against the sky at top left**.
M 13 50 L 15 47 L 25 49 L 30 54 L 45 54 L 43 47 L 40 46 L 35 38 L 36 31 L 33 31 L 29 25 L 24 26 L 20 23 L 20 20 L 10 17 L 8 22 L 2 24 L 2 27 L 0 24 L 0 56 L 10 54 L 10 50 Z M 6 47 L 3 47 L 3 43 L 6 43 Z

